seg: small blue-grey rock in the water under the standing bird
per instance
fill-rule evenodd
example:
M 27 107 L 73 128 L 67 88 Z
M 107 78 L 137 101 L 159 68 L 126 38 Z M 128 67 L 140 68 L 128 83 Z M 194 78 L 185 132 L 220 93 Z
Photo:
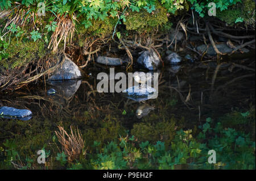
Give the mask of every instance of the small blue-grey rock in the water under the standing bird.
M 126 90 L 123 90 L 123 95 L 131 100 L 141 102 L 147 99 L 156 99 L 158 97 L 158 92 L 150 86 L 133 86 Z

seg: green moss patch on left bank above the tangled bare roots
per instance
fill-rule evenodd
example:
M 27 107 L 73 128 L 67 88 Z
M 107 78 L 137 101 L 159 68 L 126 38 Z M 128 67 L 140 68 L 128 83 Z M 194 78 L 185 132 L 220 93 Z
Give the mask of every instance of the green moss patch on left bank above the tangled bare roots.
M 17 41 L 16 37 L 14 37 L 10 41 L 6 53 L 9 54 L 9 58 L 7 60 L 2 60 L 0 65 L 6 69 L 14 69 L 20 68 L 35 58 L 42 58 L 46 54 L 46 49 L 42 40 Z

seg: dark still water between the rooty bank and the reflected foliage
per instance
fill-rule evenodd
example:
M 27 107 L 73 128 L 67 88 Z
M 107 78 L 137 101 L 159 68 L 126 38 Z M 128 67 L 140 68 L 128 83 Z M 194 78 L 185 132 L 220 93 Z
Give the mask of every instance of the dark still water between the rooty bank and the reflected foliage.
M 240 65 L 255 67 L 255 60 L 250 58 L 239 62 Z M 2 92 L 0 103 L 1 106 L 31 110 L 33 115 L 27 124 L 32 128 L 34 124 L 40 123 L 37 125 L 40 133 L 44 133 L 46 126 L 50 131 L 55 131 L 60 121 L 75 125 L 86 124 L 86 128 L 80 126 L 81 130 L 96 129 L 94 127 L 97 125 L 90 121 L 104 121 L 106 115 L 120 121 L 126 130 L 132 129 L 142 119 L 154 123 L 167 117 L 175 117 L 177 120 L 184 118 L 176 125 L 179 127 L 180 124 L 183 129 L 193 129 L 204 123 L 207 117 L 217 119 L 233 110 L 247 111 L 250 105 L 255 105 L 255 71 L 232 66 L 229 62 L 222 64 L 218 71 L 216 67 L 215 61 L 197 62 L 183 64 L 177 73 L 173 73 L 166 66 L 159 70 L 158 98 L 144 103 L 127 99 L 119 93 L 98 93 L 97 73 L 109 73 L 109 68 L 95 65 L 86 70 L 92 77 L 65 82 L 60 88 L 47 82 L 31 83 L 13 92 Z M 115 69 L 115 73 L 123 70 Z M 47 90 L 51 88 L 56 89 L 56 95 L 47 95 Z M 138 119 L 137 108 L 145 103 L 155 109 Z M 48 125 L 45 120 L 48 120 Z M 81 120 L 84 122 L 81 123 Z M 0 118 L 0 144 L 15 135 L 26 134 L 30 127 L 19 128 L 19 121 Z

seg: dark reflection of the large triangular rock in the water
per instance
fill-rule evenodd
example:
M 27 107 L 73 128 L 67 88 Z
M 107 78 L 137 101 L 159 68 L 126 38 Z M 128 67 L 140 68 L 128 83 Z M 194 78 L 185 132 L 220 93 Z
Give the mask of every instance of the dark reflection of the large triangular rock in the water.
M 56 96 L 70 99 L 81 85 L 81 80 L 73 79 L 66 81 L 49 81 L 49 85 L 52 85 L 56 90 Z

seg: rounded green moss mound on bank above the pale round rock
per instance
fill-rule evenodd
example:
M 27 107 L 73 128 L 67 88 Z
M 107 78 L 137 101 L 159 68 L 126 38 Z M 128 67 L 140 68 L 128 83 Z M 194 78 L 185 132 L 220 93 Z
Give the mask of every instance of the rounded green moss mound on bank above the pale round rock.
M 138 32 L 151 31 L 153 28 L 162 26 L 167 23 L 168 16 L 167 10 L 156 3 L 155 11 L 152 14 L 149 14 L 146 10 L 141 9 L 139 12 L 128 12 L 129 15 L 126 17 L 126 30 L 135 30 Z

